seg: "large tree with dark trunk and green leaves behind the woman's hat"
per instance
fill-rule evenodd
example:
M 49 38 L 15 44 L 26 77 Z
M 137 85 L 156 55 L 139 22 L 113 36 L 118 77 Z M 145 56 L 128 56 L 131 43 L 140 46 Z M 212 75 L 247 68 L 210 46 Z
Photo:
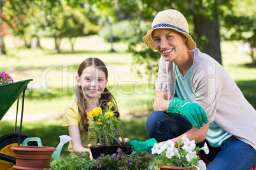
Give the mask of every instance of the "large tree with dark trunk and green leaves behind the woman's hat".
M 174 9 L 181 11 L 187 19 L 189 25 L 189 33 L 196 41 L 197 47 L 204 53 L 208 53 L 211 57 L 215 58 L 220 64 L 220 26 L 219 19 L 223 13 L 222 6 L 231 6 L 231 1 L 218 1 L 218 0 L 183 0 L 171 1 L 125 1 L 120 0 L 124 10 L 132 15 L 135 28 L 140 28 L 141 20 L 150 21 L 148 30 L 151 27 L 151 22 L 155 15 L 162 10 Z M 138 22 L 136 22 L 138 21 Z M 153 53 L 142 42 L 142 37 L 146 32 L 138 30 L 138 41 L 130 44 L 129 49 L 134 54 L 134 61 L 139 63 L 146 63 L 147 68 L 152 68 L 152 63 L 158 63 L 159 55 Z M 138 43 L 139 42 L 139 43 Z M 141 57 L 138 57 L 140 55 Z M 139 61 L 141 60 L 141 61 Z M 150 60 L 150 61 L 148 61 Z M 150 70 L 148 70 L 150 72 Z

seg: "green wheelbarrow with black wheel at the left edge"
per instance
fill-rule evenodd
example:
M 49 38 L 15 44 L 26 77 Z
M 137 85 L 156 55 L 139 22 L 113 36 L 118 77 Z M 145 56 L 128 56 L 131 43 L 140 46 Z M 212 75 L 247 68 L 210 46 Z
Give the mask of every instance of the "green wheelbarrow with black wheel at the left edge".
M 25 81 L 13 82 L 10 84 L 0 85 L 0 121 L 3 119 L 6 112 L 10 109 L 11 105 L 17 100 L 17 112 L 15 120 L 14 133 L 5 134 L 0 137 L 0 167 L 1 169 L 12 169 L 13 164 L 15 164 L 15 157 L 13 150 L 10 148 L 13 146 L 19 146 L 26 138 L 29 138 L 27 134 L 22 134 L 22 119 L 24 111 L 24 97 L 25 89 L 27 89 L 27 84 L 32 81 L 32 79 L 27 79 Z M 17 117 L 18 117 L 18 99 L 22 95 L 22 108 L 20 115 L 20 129 L 17 133 Z M 35 145 L 35 144 L 31 144 Z

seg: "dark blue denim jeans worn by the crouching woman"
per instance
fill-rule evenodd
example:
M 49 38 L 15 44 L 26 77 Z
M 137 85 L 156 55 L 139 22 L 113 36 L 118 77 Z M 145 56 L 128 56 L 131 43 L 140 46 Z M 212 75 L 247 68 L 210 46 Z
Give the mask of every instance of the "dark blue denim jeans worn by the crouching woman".
M 169 115 L 165 112 L 153 112 L 146 120 L 146 131 L 150 138 L 155 138 L 158 142 L 176 138 L 192 128 L 188 119 L 181 115 Z M 252 134 L 255 135 L 255 134 Z M 203 147 L 204 142 L 197 143 L 198 147 Z M 213 170 L 249 170 L 256 165 L 256 150 L 247 143 L 231 136 L 222 143 L 222 147 L 213 148 L 209 145 L 210 153 L 202 154 L 210 160 L 207 169 Z

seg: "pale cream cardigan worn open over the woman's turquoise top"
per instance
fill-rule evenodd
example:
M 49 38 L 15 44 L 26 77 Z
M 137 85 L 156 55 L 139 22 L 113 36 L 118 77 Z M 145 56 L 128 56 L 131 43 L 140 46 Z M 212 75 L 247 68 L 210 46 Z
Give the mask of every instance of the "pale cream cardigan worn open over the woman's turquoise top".
M 204 108 L 209 121 L 256 150 L 255 109 L 222 65 L 197 48 L 192 52 L 194 102 Z M 172 100 L 175 82 L 174 63 L 166 62 L 161 56 L 155 90 L 167 93 L 168 99 Z

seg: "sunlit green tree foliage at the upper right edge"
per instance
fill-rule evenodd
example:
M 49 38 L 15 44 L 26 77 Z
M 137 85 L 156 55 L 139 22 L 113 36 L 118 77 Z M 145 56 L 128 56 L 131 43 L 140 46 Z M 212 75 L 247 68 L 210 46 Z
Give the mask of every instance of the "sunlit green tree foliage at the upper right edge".
M 248 44 L 248 49 L 243 49 L 252 58 L 252 65 L 256 65 L 256 8 L 252 0 L 234 2 L 233 8 L 225 10 L 223 16 L 222 37 L 228 41 L 240 41 L 243 46 Z

